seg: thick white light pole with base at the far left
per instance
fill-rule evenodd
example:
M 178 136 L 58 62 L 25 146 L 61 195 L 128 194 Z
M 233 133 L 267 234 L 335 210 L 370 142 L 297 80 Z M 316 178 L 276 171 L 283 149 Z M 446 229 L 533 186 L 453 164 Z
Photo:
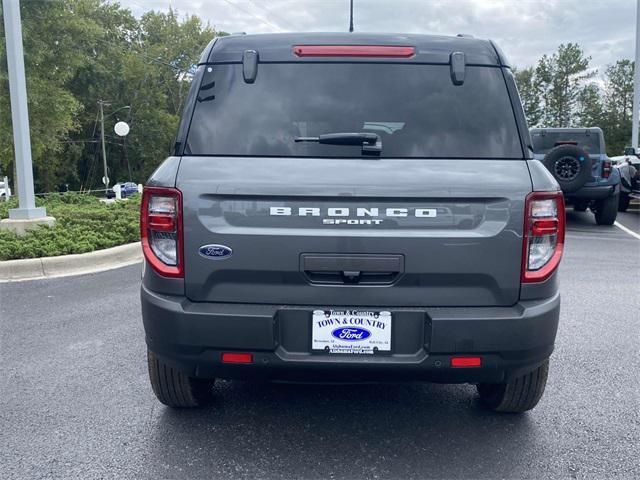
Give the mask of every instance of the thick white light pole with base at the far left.
M 16 179 L 20 208 L 9 210 L 9 218 L 22 220 L 46 217 L 44 208 L 36 208 L 33 194 L 33 165 L 29 138 L 29 112 L 27 110 L 27 86 L 24 75 L 22 51 L 22 25 L 20 0 L 2 0 L 4 31 L 7 43 L 7 67 L 11 94 L 11 121 L 15 148 Z

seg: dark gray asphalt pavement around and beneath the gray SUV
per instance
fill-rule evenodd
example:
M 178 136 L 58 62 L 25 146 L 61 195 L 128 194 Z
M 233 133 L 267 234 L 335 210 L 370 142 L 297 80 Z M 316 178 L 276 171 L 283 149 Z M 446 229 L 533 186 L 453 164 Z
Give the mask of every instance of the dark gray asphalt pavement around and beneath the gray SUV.
M 430 384 L 218 382 L 174 411 L 147 379 L 140 266 L 0 284 L 0 478 L 640 478 L 640 240 L 569 211 L 560 275 L 524 415 Z

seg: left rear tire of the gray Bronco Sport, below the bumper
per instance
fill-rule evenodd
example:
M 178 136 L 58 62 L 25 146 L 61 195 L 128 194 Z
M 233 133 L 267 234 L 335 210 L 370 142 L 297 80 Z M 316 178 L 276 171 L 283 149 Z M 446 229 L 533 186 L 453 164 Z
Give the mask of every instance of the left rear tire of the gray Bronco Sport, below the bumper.
M 168 407 L 195 408 L 213 400 L 214 380 L 189 377 L 147 350 L 149 381 L 158 400 Z

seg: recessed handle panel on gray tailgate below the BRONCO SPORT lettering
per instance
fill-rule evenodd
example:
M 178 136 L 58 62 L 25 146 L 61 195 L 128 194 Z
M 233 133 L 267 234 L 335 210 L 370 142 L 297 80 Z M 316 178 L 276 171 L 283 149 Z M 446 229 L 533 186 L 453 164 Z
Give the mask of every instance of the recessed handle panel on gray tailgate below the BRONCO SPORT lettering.
M 313 284 L 390 285 L 404 273 L 404 256 L 302 254 L 300 270 Z

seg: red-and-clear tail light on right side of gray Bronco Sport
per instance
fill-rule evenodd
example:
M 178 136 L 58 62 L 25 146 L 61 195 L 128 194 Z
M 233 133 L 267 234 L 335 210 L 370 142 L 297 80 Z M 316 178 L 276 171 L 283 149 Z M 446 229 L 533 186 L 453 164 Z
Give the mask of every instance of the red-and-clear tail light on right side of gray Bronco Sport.
M 533 192 L 525 200 L 522 282 L 542 282 L 560 264 L 564 247 L 562 192 Z

